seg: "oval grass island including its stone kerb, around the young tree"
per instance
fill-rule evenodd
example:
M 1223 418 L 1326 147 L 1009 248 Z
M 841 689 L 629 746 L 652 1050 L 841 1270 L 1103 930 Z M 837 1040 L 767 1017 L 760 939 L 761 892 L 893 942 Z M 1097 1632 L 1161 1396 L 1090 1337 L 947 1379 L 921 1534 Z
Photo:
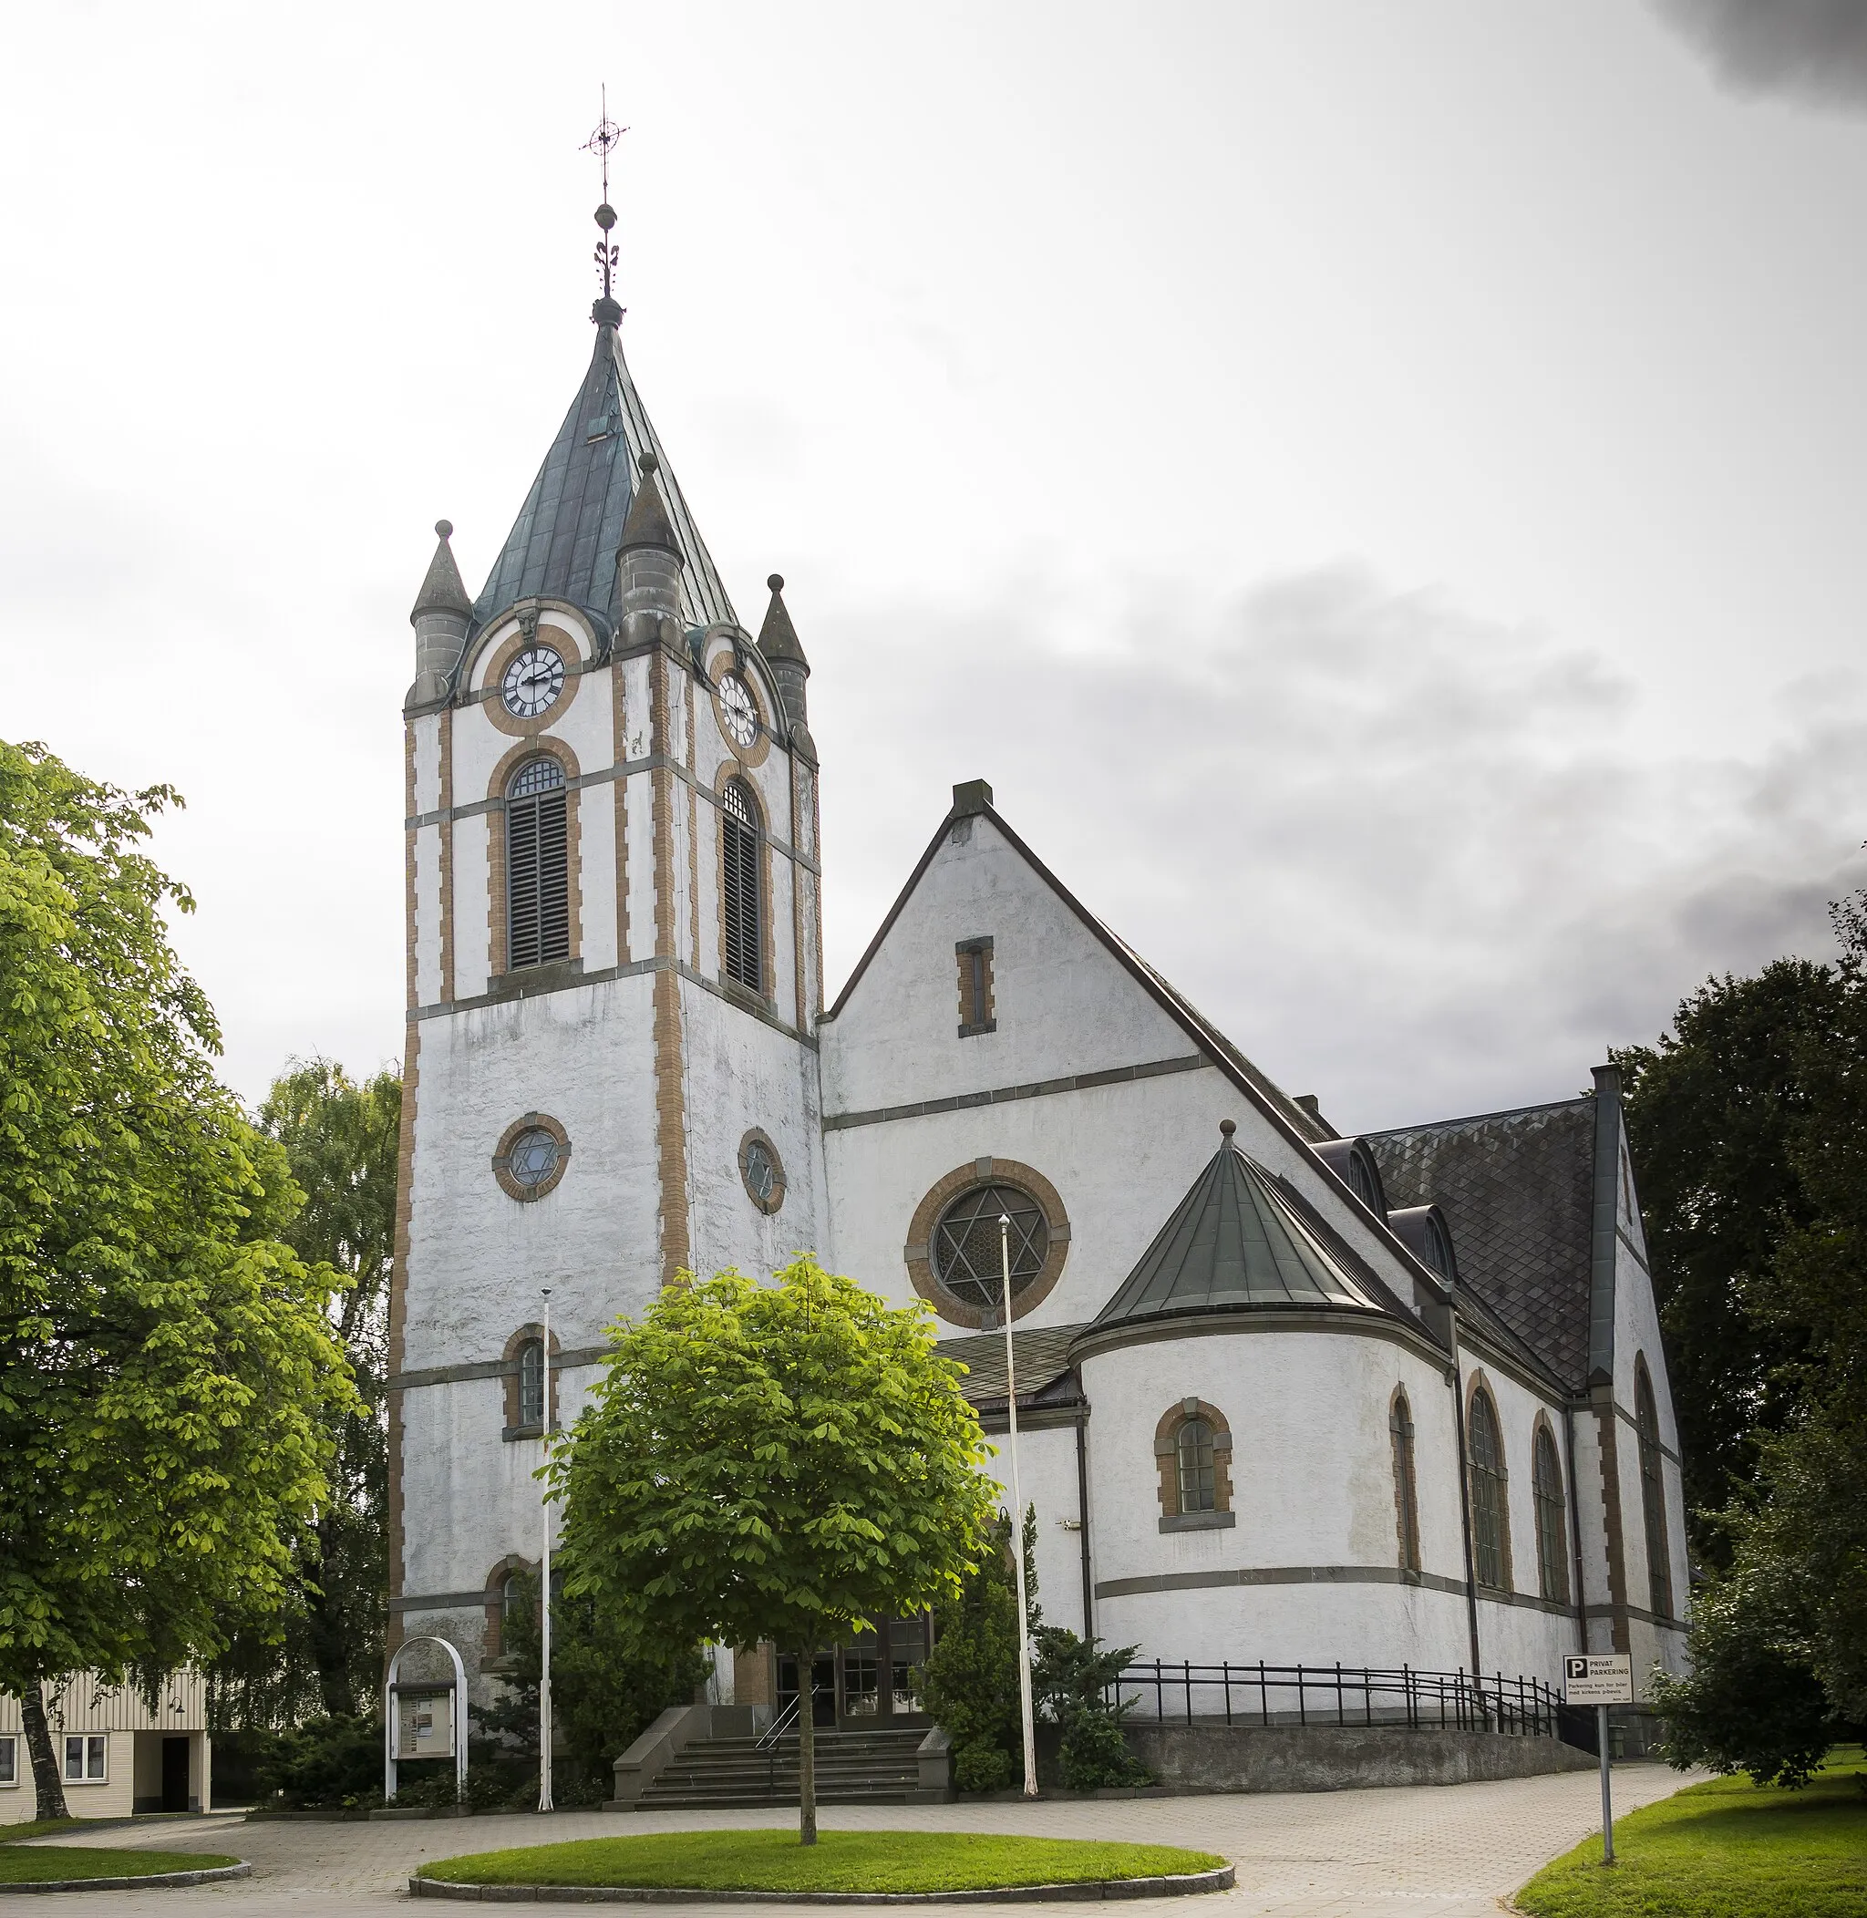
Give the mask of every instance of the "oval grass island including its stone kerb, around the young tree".
M 1211 1851 L 1115 1845 L 1090 1837 L 1000 1832 L 791 1830 L 647 1832 L 437 1859 L 409 1880 L 414 1897 L 576 1903 L 614 1897 L 783 1899 L 800 1905 L 973 1903 L 1040 1897 L 1170 1897 L 1228 1891 L 1232 1866 Z

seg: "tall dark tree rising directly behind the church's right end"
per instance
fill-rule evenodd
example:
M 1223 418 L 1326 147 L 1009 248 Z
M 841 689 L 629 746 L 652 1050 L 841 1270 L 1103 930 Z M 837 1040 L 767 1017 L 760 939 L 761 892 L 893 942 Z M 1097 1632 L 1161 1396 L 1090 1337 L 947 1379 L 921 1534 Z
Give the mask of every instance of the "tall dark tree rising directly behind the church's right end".
M 1773 1308 L 1777 1252 L 1817 1203 L 1802 1139 L 1811 1064 L 1836 1041 L 1846 982 L 1834 967 L 1779 959 L 1756 978 L 1708 980 L 1673 1032 L 1616 1053 L 1666 1329 L 1685 1502 L 1700 1557 L 1729 1540 L 1706 1513 L 1756 1473 L 1758 1440 L 1802 1396 L 1788 1371 L 1806 1333 Z

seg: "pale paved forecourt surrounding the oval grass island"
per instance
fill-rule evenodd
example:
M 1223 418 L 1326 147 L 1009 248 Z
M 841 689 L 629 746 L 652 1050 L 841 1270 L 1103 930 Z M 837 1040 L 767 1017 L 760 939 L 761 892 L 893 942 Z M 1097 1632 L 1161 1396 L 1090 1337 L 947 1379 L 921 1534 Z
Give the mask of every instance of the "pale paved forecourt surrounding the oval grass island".
M 1689 1780 L 1660 1765 L 1614 1774 L 1616 1811 L 1677 1791 Z M 829 1830 L 1034 1832 L 1046 1837 L 1128 1837 L 1218 1851 L 1238 1864 L 1238 1889 L 1207 1899 L 1136 1899 L 1132 1918 L 1495 1918 L 1497 1901 L 1537 1866 L 1587 1837 L 1600 1816 L 1595 1772 L 1510 1778 L 1479 1786 L 1406 1786 L 1378 1791 L 1289 1791 L 1234 1797 L 1048 1801 L 1040 1805 L 833 1805 Z M 198 1818 L 134 1834 L 169 1851 L 230 1851 L 253 1876 L 186 1891 L 75 1891 L 56 1914 L 42 1899 L 6 1897 L 0 1912 L 35 1918 L 384 1918 L 407 1895 L 422 1859 L 503 1845 L 549 1843 L 612 1832 L 718 1830 L 791 1824 L 771 1811 L 556 1813 L 539 1816 L 409 1820 L 393 1824 L 244 1824 Z M 123 1845 L 127 1830 L 86 1834 L 90 1845 Z M 40 1843 L 40 1839 L 27 1839 Z M 46 1843 L 73 1843 L 71 1837 Z M 443 1914 L 466 1906 L 422 1903 Z M 539 1908 L 541 1906 L 533 1906 Z M 689 1905 L 693 1918 L 743 1905 Z M 823 1906 L 758 1906 L 768 1918 L 823 1918 Z M 875 1906 L 877 1912 L 888 1910 Z M 1004 1906 L 1005 1912 L 1011 1906 Z M 1021 1906 L 1055 1918 L 1098 1914 L 1101 1903 Z M 413 1912 L 411 1912 L 413 1918 Z M 888 1918 L 898 1918 L 890 1912 Z

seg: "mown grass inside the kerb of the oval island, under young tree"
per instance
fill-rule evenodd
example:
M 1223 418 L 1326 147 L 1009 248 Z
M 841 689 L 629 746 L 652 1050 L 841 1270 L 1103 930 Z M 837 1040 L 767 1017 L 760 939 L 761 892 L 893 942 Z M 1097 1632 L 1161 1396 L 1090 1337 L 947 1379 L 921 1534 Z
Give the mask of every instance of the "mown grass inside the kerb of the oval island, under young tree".
M 984 1832 L 652 1832 L 480 1851 L 422 1866 L 457 1885 L 685 1885 L 698 1891 L 984 1891 L 1211 1872 L 1226 1860 L 1174 1845 Z

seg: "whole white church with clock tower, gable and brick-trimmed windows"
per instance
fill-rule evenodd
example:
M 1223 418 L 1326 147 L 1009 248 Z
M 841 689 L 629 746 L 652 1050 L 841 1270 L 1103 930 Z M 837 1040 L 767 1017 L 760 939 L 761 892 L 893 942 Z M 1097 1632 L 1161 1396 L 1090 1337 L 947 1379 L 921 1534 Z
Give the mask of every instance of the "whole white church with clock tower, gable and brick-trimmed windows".
M 413 612 L 391 1642 L 445 1636 L 491 1684 L 543 1433 L 681 1272 L 814 1251 L 925 1298 L 1002 1433 L 1004 1212 L 1052 1623 L 1209 1665 L 1677 1669 L 1679 1437 L 1616 1070 L 1339 1130 L 981 779 L 831 995 L 783 579 L 754 635 L 608 293 L 593 320 L 485 583 L 441 522 Z M 923 1649 L 885 1621 L 823 1661 L 819 1711 L 917 1722 Z M 720 1686 L 800 1674 L 743 1649 Z

